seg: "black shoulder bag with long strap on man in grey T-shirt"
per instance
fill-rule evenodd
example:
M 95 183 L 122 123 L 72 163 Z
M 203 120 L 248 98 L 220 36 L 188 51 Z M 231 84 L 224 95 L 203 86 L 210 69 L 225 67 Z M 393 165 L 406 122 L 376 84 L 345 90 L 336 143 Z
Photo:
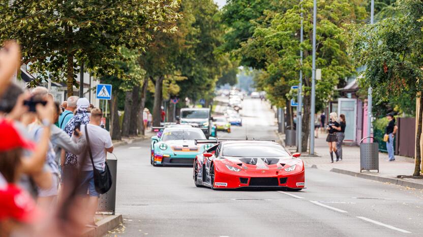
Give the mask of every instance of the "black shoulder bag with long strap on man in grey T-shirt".
M 100 194 L 104 194 L 112 187 L 112 175 L 110 174 L 109 166 L 107 165 L 107 161 L 105 161 L 104 171 L 97 170 L 96 166 L 94 165 L 93 154 L 91 153 L 91 146 L 89 145 L 89 138 L 88 138 L 88 125 L 85 125 L 85 136 L 86 141 L 88 143 L 88 153 L 89 158 L 91 159 L 91 164 L 93 164 L 93 172 L 94 172 L 94 184 L 96 186 L 96 191 Z

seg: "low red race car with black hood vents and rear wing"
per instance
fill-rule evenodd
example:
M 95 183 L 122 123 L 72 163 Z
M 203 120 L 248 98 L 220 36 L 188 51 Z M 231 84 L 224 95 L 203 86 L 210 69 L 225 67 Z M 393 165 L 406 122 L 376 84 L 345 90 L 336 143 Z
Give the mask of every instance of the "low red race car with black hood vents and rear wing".
M 304 186 L 304 163 L 274 141 L 196 140 L 217 143 L 194 160 L 195 186 L 212 189 L 281 188 L 299 191 Z

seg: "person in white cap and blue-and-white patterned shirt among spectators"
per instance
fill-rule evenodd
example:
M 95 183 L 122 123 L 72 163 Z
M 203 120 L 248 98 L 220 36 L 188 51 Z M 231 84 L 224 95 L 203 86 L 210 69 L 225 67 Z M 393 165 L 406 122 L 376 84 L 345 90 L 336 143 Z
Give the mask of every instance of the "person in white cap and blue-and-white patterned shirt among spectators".
M 86 98 L 79 98 L 76 102 L 76 113 L 65 126 L 65 132 L 69 137 L 71 137 L 75 131 L 75 125 L 80 126 L 89 123 L 88 107 L 89 101 Z M 61 161 L 61 166 L 63 169 L 62 181 L 64 187 L 67 188 L 66 186 L 71 184 L 69 182 L 73 180 L 74 175 L 76 175 L 78 171 L 78 157 L 71 152 L 66 152 L 65 161 Z

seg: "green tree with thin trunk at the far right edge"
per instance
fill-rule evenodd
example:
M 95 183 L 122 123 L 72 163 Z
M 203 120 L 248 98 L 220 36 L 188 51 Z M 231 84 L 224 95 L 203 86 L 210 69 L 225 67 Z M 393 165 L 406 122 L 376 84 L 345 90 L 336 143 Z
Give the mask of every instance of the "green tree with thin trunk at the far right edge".
M 414 101 L 420 97 L 414 176 L 420 175 L 420 138 L 423 116 L 423 3 L 398 0 L 400 17 L 386 18 L 374 25 L 352 25 L 348 29 L 348 49 L 357 65 L 367 65 L 361 87 L 373 88 L 378 102 Z M 406 32 L 406 33 L 405 33 Z

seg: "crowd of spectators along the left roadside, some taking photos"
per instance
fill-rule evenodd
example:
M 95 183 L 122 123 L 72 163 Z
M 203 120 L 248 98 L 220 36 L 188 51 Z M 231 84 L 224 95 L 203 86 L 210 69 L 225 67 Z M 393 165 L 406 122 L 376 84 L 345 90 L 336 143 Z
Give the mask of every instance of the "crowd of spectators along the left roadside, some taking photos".
M 13 84 L 20 59 L 15 42 L 0 50 L 0 237 L 76 236 L 96 227 L 93 169 L 113 152 L 103 112 L 86 98 L 54 101 L 44 87 Z

